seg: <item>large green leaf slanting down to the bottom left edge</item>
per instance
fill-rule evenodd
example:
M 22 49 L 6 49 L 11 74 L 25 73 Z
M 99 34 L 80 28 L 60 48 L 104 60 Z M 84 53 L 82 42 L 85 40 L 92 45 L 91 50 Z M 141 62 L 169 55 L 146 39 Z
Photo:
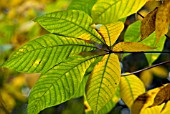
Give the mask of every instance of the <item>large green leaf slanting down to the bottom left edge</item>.
M 28 114 L 71 99 L 80 86 L 86 69 L 97 56 L 73 56 L 43 74 L 31 90 Z

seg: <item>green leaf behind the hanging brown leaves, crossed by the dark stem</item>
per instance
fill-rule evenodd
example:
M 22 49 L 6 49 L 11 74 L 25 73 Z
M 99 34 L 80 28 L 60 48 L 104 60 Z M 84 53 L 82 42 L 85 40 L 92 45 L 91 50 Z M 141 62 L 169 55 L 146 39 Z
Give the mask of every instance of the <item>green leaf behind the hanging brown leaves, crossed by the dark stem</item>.
M 156 44 L 156 48 L 153 49 L 153 51 L 162 51 L 164 48 L 166 37 L 163 36 L 159 40 L 159 42 Z M 156 35 L 155 32 L 153 32 L 151 35 L 149 35 L 147 38 L 145 38 L 141 43 L 148 45 L 148 46 L 155 46 L 156 43 Z M 149 66 L 152 65 L 152 63 L 158 59 L 161 53 L 145 53 L 145 56 L 147 58 L 147 61 L 149 63 Z

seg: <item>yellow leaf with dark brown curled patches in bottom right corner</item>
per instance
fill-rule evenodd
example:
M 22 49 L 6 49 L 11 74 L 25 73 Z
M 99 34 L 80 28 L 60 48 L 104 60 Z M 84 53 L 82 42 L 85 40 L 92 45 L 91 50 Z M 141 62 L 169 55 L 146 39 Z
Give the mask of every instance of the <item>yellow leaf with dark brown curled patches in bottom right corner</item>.
M 149 90 L 132 105 L 131 114 L 161 114 L 170 99 L 170 84 Z

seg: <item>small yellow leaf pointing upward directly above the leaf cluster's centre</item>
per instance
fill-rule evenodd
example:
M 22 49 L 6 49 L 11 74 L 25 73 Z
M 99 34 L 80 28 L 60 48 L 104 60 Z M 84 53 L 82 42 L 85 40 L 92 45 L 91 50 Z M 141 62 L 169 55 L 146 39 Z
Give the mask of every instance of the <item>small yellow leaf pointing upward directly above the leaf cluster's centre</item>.
M 123 22 L 115 22 L 101 26 L 98 32 L 102 35 L 106 44 L 108 46 L 112 46 L 118 39 L 123 28 L 124 28 Z

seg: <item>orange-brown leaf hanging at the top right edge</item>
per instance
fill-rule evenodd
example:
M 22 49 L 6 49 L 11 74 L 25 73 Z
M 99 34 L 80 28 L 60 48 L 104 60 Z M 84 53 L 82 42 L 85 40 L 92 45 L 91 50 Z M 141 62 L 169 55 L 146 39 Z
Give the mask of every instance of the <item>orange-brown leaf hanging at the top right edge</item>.
M 170 17 L 170 1 L 165 0 L 164 3 L 158 8 L 156 14 L 156 38 L 159 39 L 168 32 Z

